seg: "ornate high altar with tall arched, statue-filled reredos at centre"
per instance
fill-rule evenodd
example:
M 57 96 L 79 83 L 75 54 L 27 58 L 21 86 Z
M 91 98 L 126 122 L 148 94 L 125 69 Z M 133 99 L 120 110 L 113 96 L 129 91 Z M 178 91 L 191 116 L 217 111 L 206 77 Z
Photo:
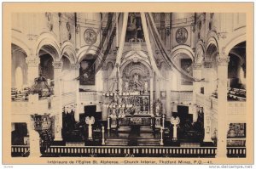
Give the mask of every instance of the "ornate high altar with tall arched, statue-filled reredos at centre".
M 136 45 L 140 45 L 139 40 Z M 148 56 L 131 51 L 117 67 L 117 90 L 109 94 L 108 128 L 120 126 L 160 127 L 160 100 L 153 101 L 153 72 Z M 153 104 L 154 103 L 154 104 Z

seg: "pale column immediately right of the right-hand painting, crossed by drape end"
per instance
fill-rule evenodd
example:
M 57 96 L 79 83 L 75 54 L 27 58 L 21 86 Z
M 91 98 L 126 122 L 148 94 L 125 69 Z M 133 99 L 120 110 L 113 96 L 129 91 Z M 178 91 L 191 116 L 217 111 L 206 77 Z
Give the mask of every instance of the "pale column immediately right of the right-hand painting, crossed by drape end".
M 201 64 L 193 64 L 193 76 L 201 79 Z M 196 94 L 200 93 L 201 82 L 193 82 L 193 104 L 196 104 Z

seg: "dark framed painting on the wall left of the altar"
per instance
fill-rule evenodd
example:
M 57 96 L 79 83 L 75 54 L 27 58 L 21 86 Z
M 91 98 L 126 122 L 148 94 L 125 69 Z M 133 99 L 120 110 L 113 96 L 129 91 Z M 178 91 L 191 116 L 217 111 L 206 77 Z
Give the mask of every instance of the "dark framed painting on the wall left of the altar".
M 80 63 L 80 85 L 95 85 L 95 59 L 84 59 Z

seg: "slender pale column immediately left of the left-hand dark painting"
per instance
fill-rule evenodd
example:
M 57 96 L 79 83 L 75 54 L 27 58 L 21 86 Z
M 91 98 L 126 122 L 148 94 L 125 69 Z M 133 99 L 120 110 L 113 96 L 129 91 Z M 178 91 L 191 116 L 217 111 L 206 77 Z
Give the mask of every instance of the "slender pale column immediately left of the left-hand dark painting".
M 69 65 L 70 70 L 73 70 L 73 75 L 74 77 L 78 77 L 79 76 L 79 68 L 80 65 L 79 64 L 71 64 Z M 74 80 L 74 89 L 75 89 L 75 93 L 76 93 L 76 111 L 74 112 L 74 118 L 75 121 L 79 121 L 79 113 L 80 113 L 80 97 L 79 97 L 79 80 Z

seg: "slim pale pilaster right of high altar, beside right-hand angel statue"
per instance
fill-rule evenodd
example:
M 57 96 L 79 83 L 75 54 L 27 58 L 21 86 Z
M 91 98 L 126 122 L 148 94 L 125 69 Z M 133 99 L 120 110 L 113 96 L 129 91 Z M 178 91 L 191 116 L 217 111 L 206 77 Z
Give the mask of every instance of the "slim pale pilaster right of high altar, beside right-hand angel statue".
M 172 117 L 171 89 L 172 89 L 172 70 L 166 70 L 166 119 Z

